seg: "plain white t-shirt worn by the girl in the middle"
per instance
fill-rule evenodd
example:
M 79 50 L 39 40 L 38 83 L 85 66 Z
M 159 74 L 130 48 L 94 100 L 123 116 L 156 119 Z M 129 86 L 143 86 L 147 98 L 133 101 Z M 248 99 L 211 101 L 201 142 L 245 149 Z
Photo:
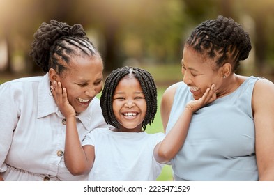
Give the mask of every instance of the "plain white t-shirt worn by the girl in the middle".
M 156 162 L 153 150 L 165 134 L 113 132 L 112 128 L 95 129 L 82 142 L 95 148 L 89 180 L 156 180 L 164 164 Z

